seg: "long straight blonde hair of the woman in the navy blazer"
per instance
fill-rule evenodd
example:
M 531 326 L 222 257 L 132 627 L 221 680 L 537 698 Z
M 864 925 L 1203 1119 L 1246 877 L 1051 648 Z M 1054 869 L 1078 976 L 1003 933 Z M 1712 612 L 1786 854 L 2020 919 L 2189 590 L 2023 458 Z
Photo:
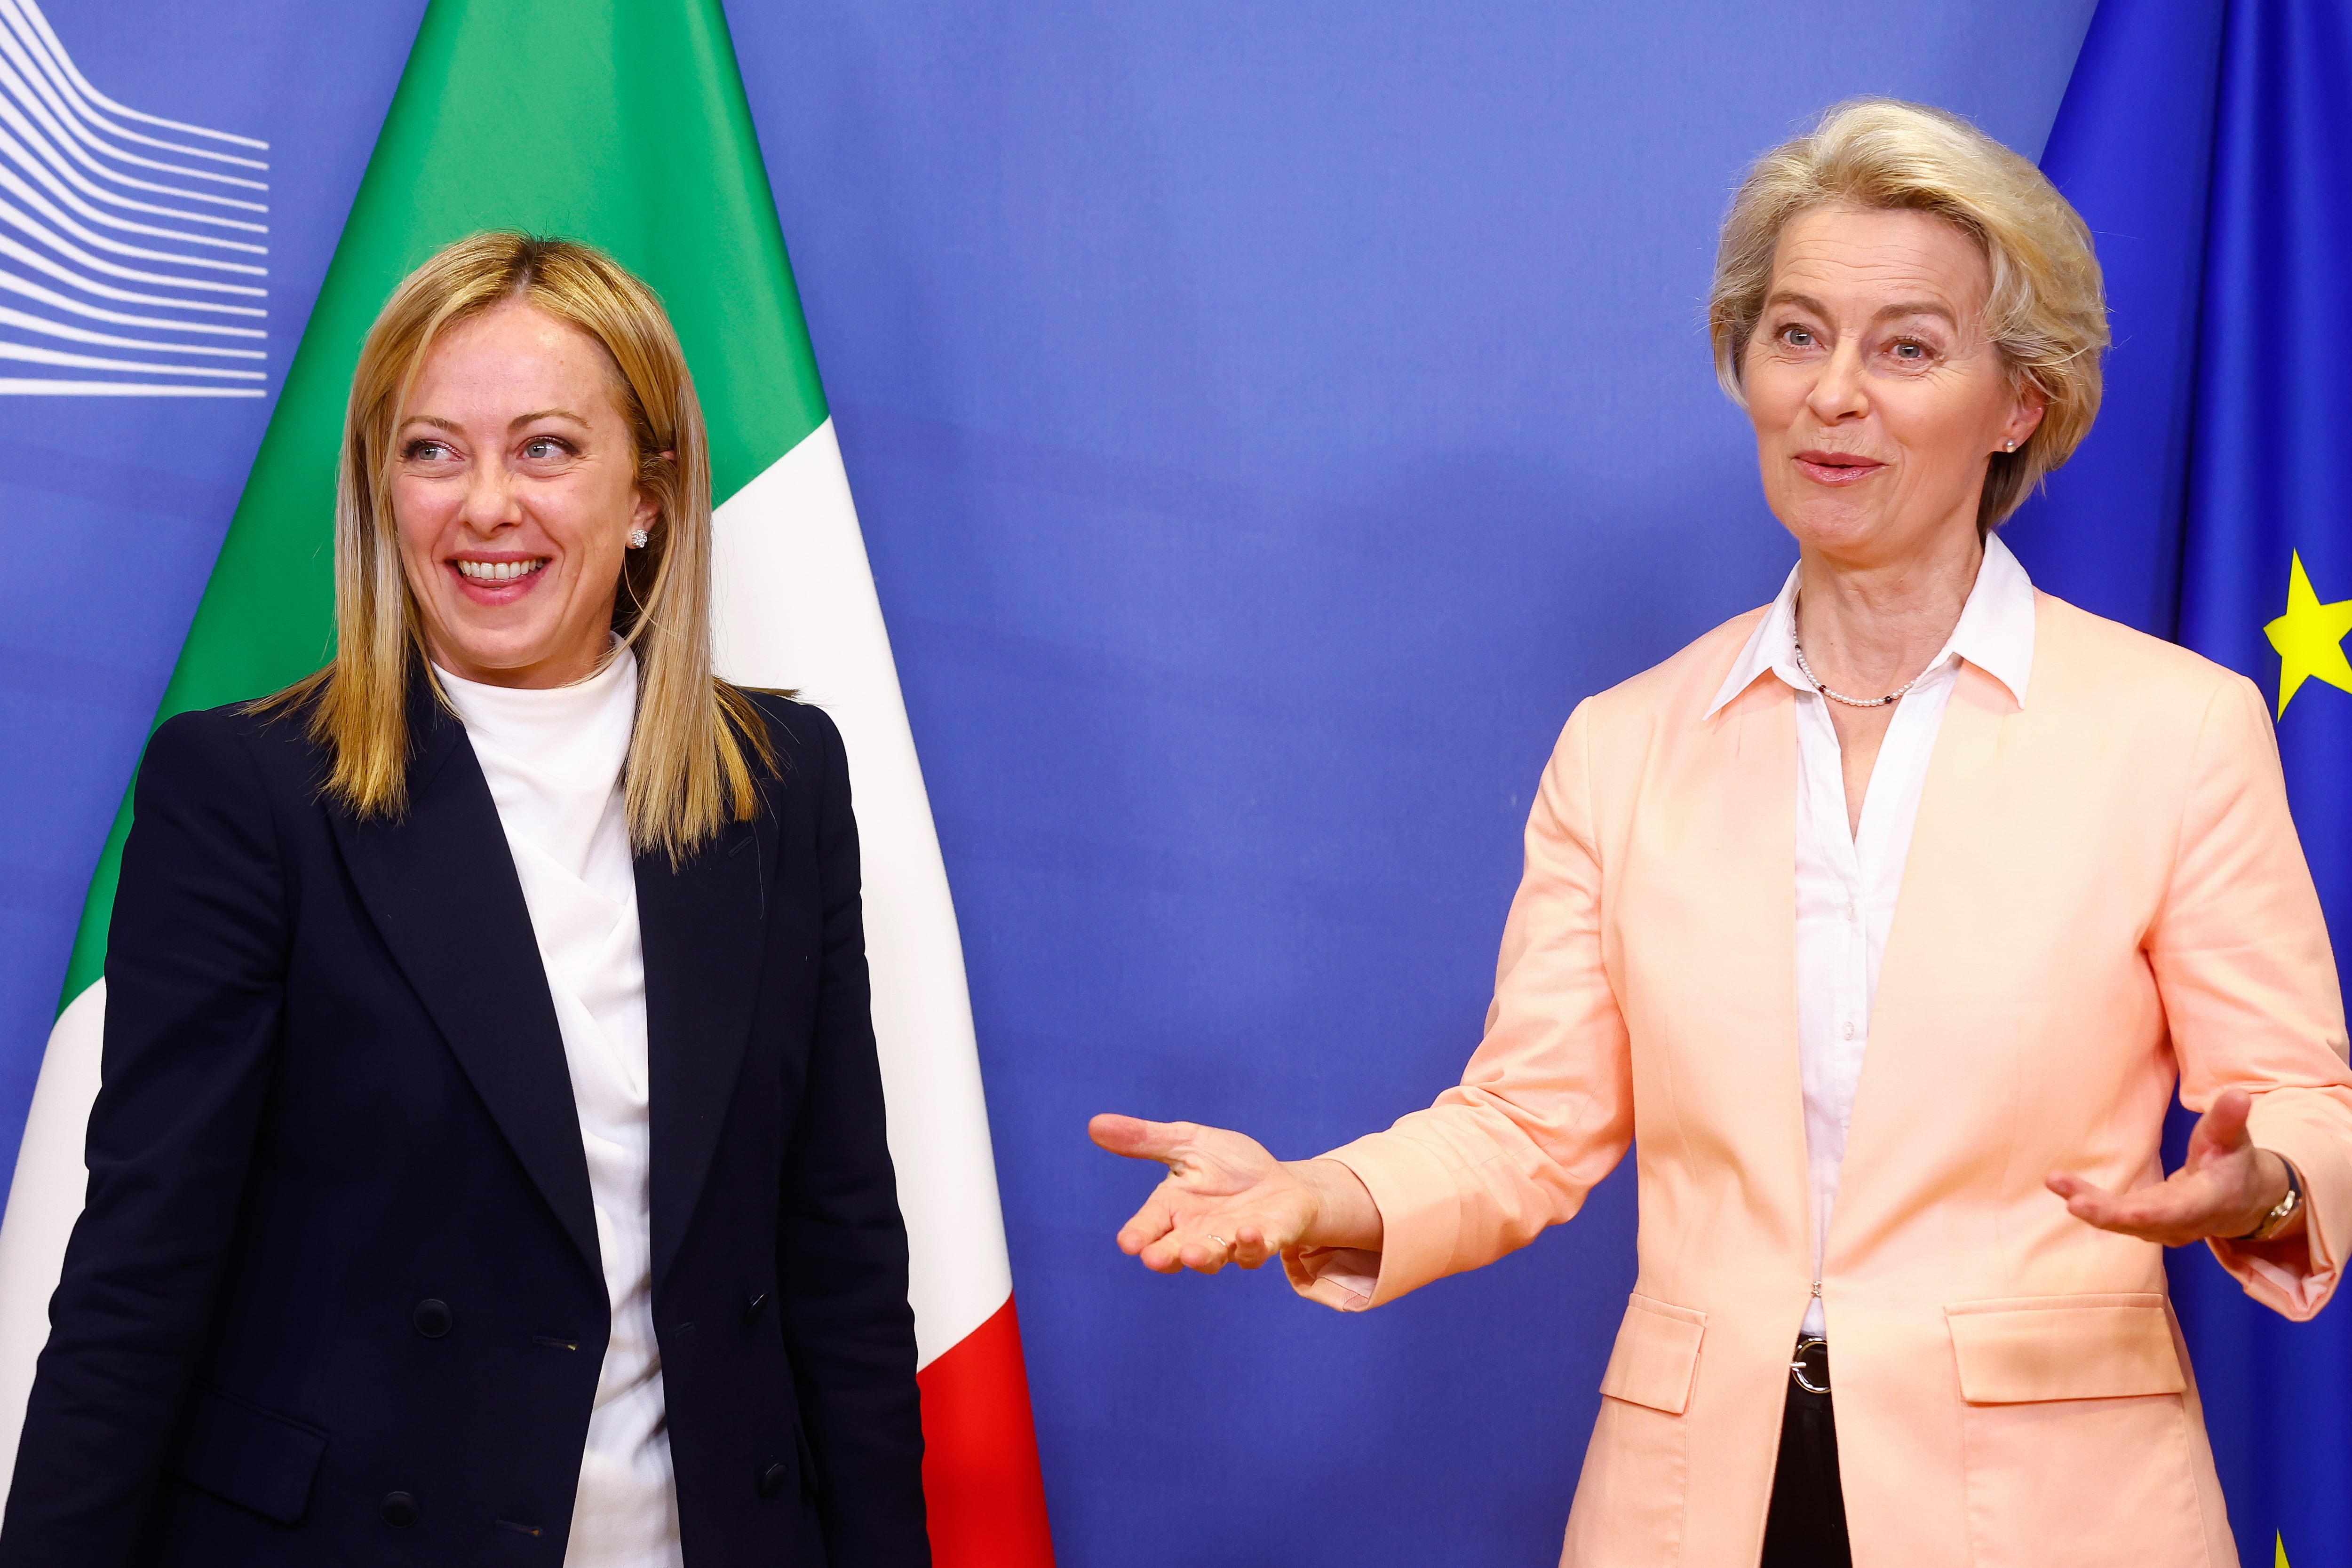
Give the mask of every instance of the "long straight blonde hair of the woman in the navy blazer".
M 407 811 L 409 682 L 449 698 L 426 656 L 416 592 L 400 564 L 390 480 L 400 421 L 445 331 L 503 301 L 527 301 L 588 334 L 614 371 L 614 402 L 637 449 L 637 487 L 656 505 L 647 545 L 628 550 L 612 628 L 637 656 L 626 813 L 635 851 L 682 860 L 760 809 L 746 743 L 774 766 L 750 698 L 710 672 L 710 447 L 677 331 L 644 282 L 572 240 L 492 230 L 459 240 L 400 280 L 360 346 L 334 496 L 334 663 L 266 698 L 308 710 L 327 750 L 327 795 L 360 818 Z

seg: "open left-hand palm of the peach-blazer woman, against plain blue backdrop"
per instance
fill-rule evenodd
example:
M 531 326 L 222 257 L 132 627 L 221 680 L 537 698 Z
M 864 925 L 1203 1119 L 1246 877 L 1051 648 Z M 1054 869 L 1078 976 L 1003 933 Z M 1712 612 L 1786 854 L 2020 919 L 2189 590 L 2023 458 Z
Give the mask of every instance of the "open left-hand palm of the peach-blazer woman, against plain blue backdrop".
M 1381 1244 L 1371 1194 L 1336 1161 L 1284 1164 L 1256 1138 L 1195 1121 L 1096 1117 L 1087 1133 L 1112 1154 L 1167 1166 L 1120 1227 L 1120 1251 L 1160 1274 L 1216 1274 L 1228 1262 L 1254 1269 L 1298 1246 Z

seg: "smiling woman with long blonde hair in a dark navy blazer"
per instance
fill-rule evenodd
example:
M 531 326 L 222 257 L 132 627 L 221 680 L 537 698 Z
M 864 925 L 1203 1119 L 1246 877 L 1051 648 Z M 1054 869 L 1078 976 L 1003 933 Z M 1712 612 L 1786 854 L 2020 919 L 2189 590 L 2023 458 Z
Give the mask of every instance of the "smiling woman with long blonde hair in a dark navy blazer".
M 336 663 L 141 766 L 0 1563 L 929 1563 L 842 741 L 708 541 L 637 280 L 402 284 Z

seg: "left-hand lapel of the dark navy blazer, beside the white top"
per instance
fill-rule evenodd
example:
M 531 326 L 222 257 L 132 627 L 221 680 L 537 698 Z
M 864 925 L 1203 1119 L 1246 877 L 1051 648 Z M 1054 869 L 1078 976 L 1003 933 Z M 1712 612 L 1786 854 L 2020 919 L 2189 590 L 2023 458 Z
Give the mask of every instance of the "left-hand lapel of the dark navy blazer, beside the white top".
M 362 823 L 329 809 L 343 865 L 482 1105 L 602 1279 L 572 1067 L 499 806 L 463 726 L 423 679 L 412 686 L 409 736 L 407 816 Z

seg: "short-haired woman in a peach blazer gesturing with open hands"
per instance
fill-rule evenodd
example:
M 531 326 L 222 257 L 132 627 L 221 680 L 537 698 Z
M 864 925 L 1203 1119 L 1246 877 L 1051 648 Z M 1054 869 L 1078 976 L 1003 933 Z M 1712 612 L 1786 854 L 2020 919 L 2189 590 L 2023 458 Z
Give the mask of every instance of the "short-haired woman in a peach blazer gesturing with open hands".
M 2352 1074 L 2260 693 L 1992 534 L 2098 407 L 2089 233 L 1973 127 L 1849 103 L 1750 172 L 1710 315 L 1783 595 L 1569 719 L 1458 1088 L 1296 1164 L 1098 1117 L 1169 1166 L 1120 1244 L 1364 1309 L 1632 1143 L 1562 1563 L 2234 1563 L 2161 1253 L 2317 1312 Z

